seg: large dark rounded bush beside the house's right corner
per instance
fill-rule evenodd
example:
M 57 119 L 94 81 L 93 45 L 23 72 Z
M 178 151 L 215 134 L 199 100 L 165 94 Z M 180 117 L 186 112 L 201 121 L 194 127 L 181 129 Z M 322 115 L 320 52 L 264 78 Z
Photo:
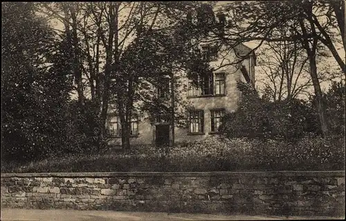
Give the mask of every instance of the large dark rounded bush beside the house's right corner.
M 219 130 L 226 137 L 262 137 L 297 140 L 307 133 L 320 133 L 311 105 L 298 99 L 268 102 L 260 99 L 248 84 L 240 83 L 239 107 L 223 118 Z

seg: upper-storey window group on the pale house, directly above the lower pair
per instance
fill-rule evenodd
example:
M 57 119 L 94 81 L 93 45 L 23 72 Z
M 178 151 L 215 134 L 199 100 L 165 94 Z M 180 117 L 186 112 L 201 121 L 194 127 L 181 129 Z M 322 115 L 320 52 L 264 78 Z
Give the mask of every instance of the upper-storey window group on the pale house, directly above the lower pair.
M 225 95 L 225 73 L 216 73 L 203 77 L 198 81 L 198 85 L 188 83 L 188 96 L 199 97 L 203 95 Z

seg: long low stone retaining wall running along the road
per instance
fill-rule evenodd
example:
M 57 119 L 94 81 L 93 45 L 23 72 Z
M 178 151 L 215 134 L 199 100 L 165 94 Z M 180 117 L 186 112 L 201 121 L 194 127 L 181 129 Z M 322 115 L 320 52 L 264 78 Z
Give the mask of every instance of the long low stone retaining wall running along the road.
M 345 171 L 7 173 L 1 206 L 340 216 Z

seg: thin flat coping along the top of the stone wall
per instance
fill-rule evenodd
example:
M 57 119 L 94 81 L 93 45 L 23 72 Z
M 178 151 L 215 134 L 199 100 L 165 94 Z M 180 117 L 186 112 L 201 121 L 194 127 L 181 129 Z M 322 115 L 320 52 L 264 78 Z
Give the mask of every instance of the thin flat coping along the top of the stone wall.
M 1 173 L 1 177 L 345 177 L 345 171 Z

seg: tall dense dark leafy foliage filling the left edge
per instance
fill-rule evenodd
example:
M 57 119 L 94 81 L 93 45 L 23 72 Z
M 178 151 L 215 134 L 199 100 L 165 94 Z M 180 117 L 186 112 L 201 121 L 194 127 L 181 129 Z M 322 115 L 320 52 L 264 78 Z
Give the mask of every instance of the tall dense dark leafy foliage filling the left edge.
M 68 80 L 48 71 L 53 44 L 33 3 L 3 3 L 1 157 L 32 160 L 64 146 Z

